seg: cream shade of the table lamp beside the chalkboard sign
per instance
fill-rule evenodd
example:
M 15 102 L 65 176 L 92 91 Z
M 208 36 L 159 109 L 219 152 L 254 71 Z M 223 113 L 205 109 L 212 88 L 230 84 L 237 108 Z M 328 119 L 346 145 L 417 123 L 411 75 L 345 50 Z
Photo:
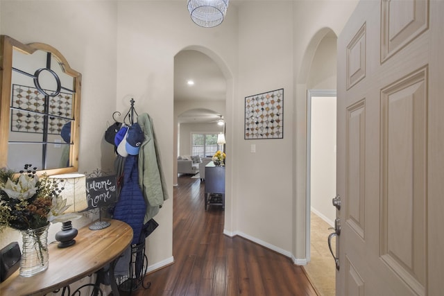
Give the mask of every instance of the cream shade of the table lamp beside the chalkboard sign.
M 79 173 L 51 175 L 50 178 L 57 179 L 60 186 L 63 187 L 62 197 L 71 204 L 65 213 L 74 213 L 87 209 L 88 202 L 86 198 L 86 176 Z

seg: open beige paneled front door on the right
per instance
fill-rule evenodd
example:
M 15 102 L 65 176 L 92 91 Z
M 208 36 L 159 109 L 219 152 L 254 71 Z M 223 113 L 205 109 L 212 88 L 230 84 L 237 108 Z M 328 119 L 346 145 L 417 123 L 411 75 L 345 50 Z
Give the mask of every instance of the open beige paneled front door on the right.
M 339 36 L 336 295 L 444 293 L 443 16 L 364 0 Z

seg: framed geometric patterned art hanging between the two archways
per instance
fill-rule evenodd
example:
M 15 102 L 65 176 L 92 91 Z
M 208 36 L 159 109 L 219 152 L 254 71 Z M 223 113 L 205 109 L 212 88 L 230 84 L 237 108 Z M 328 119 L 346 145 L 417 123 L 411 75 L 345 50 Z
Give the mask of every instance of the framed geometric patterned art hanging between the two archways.
M 284 138 L 284 89 L 246 96 L 244 139 Z

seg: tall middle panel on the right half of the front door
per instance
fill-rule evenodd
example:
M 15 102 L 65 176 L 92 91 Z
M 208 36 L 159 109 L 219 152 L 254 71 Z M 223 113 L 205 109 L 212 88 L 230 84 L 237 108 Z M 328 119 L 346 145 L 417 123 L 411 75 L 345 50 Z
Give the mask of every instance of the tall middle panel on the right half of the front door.
M 381 92 L 381 257 L 418 295 L 427 262 L 426 77 L 420 69 Z

